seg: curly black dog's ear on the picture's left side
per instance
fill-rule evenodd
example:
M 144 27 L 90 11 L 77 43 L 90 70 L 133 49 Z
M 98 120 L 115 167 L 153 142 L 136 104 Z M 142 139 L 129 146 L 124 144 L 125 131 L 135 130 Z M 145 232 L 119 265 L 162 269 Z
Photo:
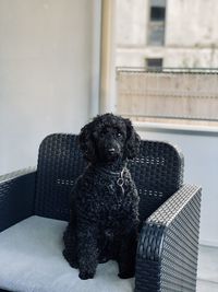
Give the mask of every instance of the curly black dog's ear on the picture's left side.
M 80 132 L 78 142 L 84 157 L 94 162 L 96 160 L 95 145 L 93 141 L 93 121 L 85 125 Z

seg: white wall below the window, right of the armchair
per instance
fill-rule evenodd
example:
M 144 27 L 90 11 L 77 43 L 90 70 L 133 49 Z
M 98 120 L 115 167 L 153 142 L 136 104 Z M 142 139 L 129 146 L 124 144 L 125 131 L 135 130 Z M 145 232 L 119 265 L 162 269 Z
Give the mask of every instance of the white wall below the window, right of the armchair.
M 145 126 L 143 139 L 170 141 L 184 154 L 184 182 L 203 187 L 199 242 L 218 246 L 218 132 L 170 130 Z

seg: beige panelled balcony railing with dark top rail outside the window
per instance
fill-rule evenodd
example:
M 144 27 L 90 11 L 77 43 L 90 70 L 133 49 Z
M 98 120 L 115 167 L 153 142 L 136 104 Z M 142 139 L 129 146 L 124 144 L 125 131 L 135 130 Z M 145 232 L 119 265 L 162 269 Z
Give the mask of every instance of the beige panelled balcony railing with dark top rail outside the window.
M 218 69 L 117 68 L 118 113 L 218 121 Z

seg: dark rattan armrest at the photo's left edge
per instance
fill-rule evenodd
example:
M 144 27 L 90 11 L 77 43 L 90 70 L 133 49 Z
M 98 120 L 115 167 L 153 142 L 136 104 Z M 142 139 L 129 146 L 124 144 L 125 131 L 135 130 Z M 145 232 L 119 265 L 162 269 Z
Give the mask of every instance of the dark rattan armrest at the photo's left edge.
M 36 168 L 0 176 L 0 232 L 34 211 Z

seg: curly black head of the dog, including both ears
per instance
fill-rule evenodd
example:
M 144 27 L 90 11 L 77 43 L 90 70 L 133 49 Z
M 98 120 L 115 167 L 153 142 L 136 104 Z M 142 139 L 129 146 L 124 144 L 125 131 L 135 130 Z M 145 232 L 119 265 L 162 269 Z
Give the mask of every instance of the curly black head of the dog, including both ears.
M 105 114 L 81 130 L 80 144 L 89 162 L 112 163 L 133 159 L 138 151 L 140 137 L 130 119 Z

